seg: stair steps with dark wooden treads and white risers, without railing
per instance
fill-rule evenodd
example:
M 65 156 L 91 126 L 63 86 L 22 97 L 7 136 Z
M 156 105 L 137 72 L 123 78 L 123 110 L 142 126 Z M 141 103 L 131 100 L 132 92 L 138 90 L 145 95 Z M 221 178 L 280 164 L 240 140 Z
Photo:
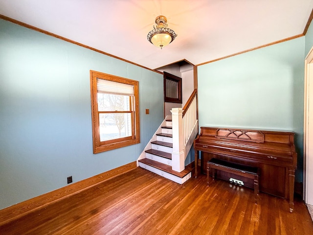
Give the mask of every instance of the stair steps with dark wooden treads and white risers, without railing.
M 178 184 L 183 184 L 191 178 L 193 168 L 185 167 L 181 172 L 172 169 L 172 119 L 165 119 L 161 132 L 155 135 L 156 141 L 150 142 L 151 148 L 144 151 L 145 158 L 138 160 L 139 166 Z

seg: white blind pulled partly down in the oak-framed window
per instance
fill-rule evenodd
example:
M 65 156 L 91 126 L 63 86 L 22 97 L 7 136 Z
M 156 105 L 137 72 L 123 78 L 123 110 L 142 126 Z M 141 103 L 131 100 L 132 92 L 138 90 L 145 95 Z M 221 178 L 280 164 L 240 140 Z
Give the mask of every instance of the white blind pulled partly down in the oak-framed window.
M 97 78 L 97 92 L 134 96 L 134 86 Z

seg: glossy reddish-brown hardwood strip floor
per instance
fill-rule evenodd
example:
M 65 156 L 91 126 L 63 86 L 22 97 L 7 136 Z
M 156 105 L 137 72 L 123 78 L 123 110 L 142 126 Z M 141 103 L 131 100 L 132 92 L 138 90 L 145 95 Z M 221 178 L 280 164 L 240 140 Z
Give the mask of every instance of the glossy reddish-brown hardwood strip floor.
M 142 168 L 0 227 L 1 235 L 312 235 L 301 200 L 287 200 L 205 175 L 178 185 Z

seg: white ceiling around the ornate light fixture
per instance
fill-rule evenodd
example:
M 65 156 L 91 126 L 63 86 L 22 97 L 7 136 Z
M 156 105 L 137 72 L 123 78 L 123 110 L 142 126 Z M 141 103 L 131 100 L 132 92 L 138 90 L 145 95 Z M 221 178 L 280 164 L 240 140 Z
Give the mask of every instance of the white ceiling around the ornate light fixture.
M 156 69 L 194 65 L 303 33 L 313 0 L 0 0 L 0 14 Z M 164 15 L 177 38 L 147 41 Z

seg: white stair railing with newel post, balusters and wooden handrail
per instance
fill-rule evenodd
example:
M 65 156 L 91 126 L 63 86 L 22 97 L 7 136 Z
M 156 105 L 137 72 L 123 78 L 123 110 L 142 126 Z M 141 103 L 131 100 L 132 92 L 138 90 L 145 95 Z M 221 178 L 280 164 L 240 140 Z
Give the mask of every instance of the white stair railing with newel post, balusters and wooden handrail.
M 173 153 L 172 169 L 181 172 L 185 169 L 185 159 L 198 134 L 197 89 L 190 95 L 187 103 L 181 108 L 173 108 Z

